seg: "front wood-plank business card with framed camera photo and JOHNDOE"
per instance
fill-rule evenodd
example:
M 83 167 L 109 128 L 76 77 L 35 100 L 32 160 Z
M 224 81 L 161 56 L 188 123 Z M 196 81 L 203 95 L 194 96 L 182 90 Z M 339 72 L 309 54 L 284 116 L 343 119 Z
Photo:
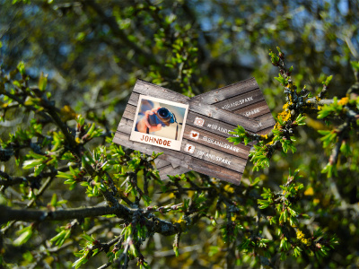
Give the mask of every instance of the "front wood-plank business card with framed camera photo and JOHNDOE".
M 223 98 L 218 96 L 217 102 L 228 99 L 227 91 L 221 94 Z M 208 100 L 213 97 L 208 96 Z M 228 143 L 226 138 L 233 135 L 229 132 L 240 125 L 250 133 L 258 133 L 270 125 L 267 121 L 208 104 L 202 100 L 202 95 L 198 97 L 189 99 L 178 92 L 138 80 L 113 141 L 146 154 L 163 152 L 159 158 L 170 162 L 172 168 L 193 169 L 239 184 L 250 146 Z M 247 102 L 254 98 L 254 95 L 247 98 Z M 235 108 L 236 102 L 243 101 L 233 99 L 229 106 Z M 180 149 L 173 147 L 174 142 L 180 143 Z

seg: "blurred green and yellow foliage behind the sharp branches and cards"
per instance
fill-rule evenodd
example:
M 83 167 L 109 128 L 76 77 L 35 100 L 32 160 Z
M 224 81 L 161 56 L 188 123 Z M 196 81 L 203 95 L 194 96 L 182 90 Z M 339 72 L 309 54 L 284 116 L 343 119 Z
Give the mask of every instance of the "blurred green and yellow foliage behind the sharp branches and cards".
M 293 81 L 313 94 L 332 74 L 329 98 L 346 95 L 355 82 L 350 61 L 359 57 L 359 2 L 350 0 L 0 0 L 0 13 L 4 72 L 23 61 L 30 82 L 37 83 L 41 72 L 48 74 L 48 91 L 64 117 L 71 119 L 75 111 L 107 131 L 116 130 L 136 78 L 193 96 L 254 76 L 276 116 L 285 95 L 274 80 L 277 70 L 269 49 L 282 48 L 287 64 L 294 67 Z M 31 113 L 9 110 L 0 123 L 1 139 L 29 125 Z M 307 126 L 298 128 L 296 153 L 276 152 L 270 168 L 256 173 L 249 163 L 245 178 L 259 177 L 260 187 L 279 190 L 288 168 L 301 169 L 306 190 L 302 210 L 311 215 L 307 224 L 337 234 L 339 246 L 328 257 L 317 262 L 288 257 L 278 265 L 354 268 L 359 265 L 359 148 L 352 144 L 353 157 L 339 160 L 338 176 L 328 178 L 320 173 L 329 154 L 317 132 L 326 126 L 316 115 L 307 115 L 306 121 Z M 98 143 L 100 138 L 89 147 Z M 23 173 L 14 161 L 6 169 Z M 64 187 L 53 184 L 50 189 L 74 205 L 90 203 Z M 158 195 L 159 201 L 168 198 Z M 144 256 L 153 268 L 221 268 L 233 256 L 218 241 L 219 232 L 206 221 L 198 222 L 182 236 L 177 258 L 172 238 L 154 236 Z M 28 253 L 29 248 L 19 250 Z M 9 259 L 17 257 L 13 252 Z M 258 266 L 250 254 L 236 258 L 238 265 Z M 88 265 L 105 262 L 103 257 Z

